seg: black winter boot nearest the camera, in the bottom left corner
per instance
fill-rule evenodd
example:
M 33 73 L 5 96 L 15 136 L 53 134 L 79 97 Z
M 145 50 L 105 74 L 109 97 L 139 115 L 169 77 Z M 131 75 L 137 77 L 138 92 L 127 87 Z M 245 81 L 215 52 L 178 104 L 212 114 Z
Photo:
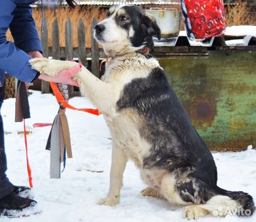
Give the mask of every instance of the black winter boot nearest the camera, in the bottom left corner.
M 34 206 L 37 202 L 32 199 L 20 197 L 15 192 L 0 199 L 0 210 L 21 210 L 29 206 Z

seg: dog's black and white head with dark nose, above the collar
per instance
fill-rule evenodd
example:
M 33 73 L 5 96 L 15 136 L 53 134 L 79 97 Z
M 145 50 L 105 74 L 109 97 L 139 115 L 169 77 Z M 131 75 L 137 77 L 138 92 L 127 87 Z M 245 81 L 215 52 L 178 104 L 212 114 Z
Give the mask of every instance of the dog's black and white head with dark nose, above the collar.
M 136 51 L 147 47 L 154 48 L 152 36 L 161 38 L 156 21 L 134 5 L 111 7 L 107 18 L 95 26 L 94 37 L 105 51 L 120 51 L 124 47 Z

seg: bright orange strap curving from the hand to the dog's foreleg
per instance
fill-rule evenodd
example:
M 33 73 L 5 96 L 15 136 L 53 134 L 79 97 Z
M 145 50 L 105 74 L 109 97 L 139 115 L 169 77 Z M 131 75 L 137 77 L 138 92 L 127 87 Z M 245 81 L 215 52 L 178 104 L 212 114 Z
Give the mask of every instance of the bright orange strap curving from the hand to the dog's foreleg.
M 77 110 L 77 111 L 84 111 L 84 112 L 91 113 L 91 114 L 94 114 L 97 116 L 99 116 L 101 114 L 98 109 L 84 109 L 84 108 L 77 109 L 76 107 L 69 105 L 63 98 L 62 94 L 59 92 L 59 89 L 56 86 L 56 84 L 54 82 L 50 82 L 50 86 L 52 88 L 52 91 L 53 91 L 58 103 L 60 103 L 63 107 L 68 108 L 68 109 Z

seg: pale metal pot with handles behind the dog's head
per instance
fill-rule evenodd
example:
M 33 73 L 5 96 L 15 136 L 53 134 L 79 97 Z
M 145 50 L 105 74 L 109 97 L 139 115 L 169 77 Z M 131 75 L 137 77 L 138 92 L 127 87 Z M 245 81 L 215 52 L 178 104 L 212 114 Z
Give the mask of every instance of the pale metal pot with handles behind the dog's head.
M 148 16 L 154 17 L 161 30 L 161 38 L 168 39 L 177 37 L 180 32 L 181 11 L 177 9 L 150 8 L 146 10 Z

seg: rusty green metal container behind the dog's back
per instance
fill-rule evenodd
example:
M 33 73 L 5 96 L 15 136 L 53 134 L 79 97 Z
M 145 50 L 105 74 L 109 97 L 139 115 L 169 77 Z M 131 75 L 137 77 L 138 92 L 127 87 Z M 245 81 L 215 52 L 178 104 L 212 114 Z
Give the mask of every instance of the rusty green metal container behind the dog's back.
M 157 56 L 211 150 L 256 147 L 256 51 L 243 50 L 208 51 L 205 58 Z

